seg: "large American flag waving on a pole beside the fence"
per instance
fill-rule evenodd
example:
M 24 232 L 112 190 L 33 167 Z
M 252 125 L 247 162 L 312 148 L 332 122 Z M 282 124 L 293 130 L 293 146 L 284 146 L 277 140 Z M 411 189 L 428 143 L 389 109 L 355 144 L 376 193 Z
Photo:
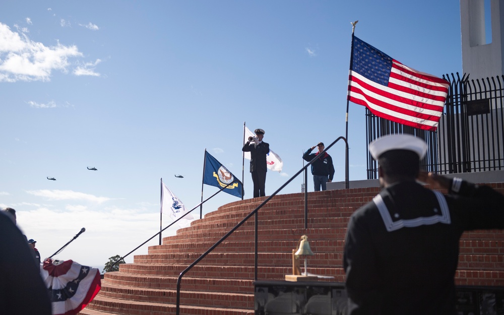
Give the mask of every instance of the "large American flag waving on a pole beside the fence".
M 435 131 L 450 83 L 416 71 L 352 36 L 347 99 L 376 116 Z

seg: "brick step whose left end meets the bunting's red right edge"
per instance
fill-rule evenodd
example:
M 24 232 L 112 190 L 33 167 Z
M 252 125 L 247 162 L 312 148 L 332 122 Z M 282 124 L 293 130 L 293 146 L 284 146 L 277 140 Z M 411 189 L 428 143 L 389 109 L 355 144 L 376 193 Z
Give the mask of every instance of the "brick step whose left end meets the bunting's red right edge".
M 156 302 L 175 304 L 177 302 L 177 291 L 149 289 L 149 288 L 130 288 L 117 286 L 108 283 L 102 286 L 101 292 L 103 296 L 122 299 L 134 300 L 142 302 Z M 190 292 L 180 291 L 180 301 L 184 304 L 210 306 L 210 307 L 226 307 L 226 308 L 254 308 L 254 294 L 244 293 L 225 293 L 225 292 Z

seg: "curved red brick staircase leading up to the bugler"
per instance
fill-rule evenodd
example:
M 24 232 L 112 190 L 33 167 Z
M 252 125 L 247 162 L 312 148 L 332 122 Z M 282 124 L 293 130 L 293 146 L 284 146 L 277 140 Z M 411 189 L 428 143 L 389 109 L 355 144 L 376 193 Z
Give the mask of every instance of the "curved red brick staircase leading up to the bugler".
M 504 193 L 502 183 L 491 184 Z M 353 188 L 308 194 L 308 229 L 304 229 L 304 194 L 275 196 L 259 210 L 258 280 L 284 280 L 292 273 L 292 249 L 306 234 L 315 256 L 308 272 L 344 282 L 342 269 L 350 215 L 379 188 Z M 161 315 L 176 312 L 180 273 L 263 201 L 233 202 L 208 213 L 136 255 L 133 264 L 106 273 L 102 289 L 81 315 Z M 180 314 L 254 314 L 254 217 L 215 248 L 181 281 Z M 472 231 L 460 242 L 457 285 L 504 285 L 504 233 Z

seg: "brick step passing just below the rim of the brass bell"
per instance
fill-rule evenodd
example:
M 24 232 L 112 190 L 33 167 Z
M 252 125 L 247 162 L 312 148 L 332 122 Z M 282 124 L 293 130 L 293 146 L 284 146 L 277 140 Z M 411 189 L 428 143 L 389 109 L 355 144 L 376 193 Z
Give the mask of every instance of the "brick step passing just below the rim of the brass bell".
M 288 249 L 287 249 L 288 250 Z M 292 263 L 292 249 L 283 253 L 258 253 L 258 261 L 260 266 L 276 266 L 277 264 Z M 314 256 L 308 257 L 310 265 L 313 266 L 331 266 L 339 264 L 343 260 L 342 253 L 314 253 Z M 190 265 L 197 260 L 201 255 L 196 253 L 171 253 L 171 254 L 147 254 L 135 255 L 134 263 L 139 264 L 186 264 Z M 254 264 L 255 253 L 210 253 L 202 261 L 200 265 L 212 266 L 243 266 Z

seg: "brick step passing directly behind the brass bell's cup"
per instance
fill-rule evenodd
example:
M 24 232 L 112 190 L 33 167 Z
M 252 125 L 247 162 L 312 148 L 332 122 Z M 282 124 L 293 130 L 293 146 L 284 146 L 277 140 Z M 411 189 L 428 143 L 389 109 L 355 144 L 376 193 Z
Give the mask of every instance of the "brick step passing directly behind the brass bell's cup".
M 171 241 L 164 243 L 162 245 L 152 245 L 149 246 L 149 254 L 169 254 L 169 253 L 204 253 L 208 248 L 210 248 L 218 239 L 205 242 L 175 242 Z M 332 240 L 318 240 L 308 238 L 311 250 L 313 253 L 333 253 L 342 252 L 344 240 L 332 239 Z M 259 253 L 274 253 L 281 252 L 285 253 L 289 251 L 289 248 L 298 248 L 299 240 L 263 240 L 258 241 L 258 251 Z M 255 241 L 223 241 L 214 249 L 215 253 L 242 253 L 254 250 Z

